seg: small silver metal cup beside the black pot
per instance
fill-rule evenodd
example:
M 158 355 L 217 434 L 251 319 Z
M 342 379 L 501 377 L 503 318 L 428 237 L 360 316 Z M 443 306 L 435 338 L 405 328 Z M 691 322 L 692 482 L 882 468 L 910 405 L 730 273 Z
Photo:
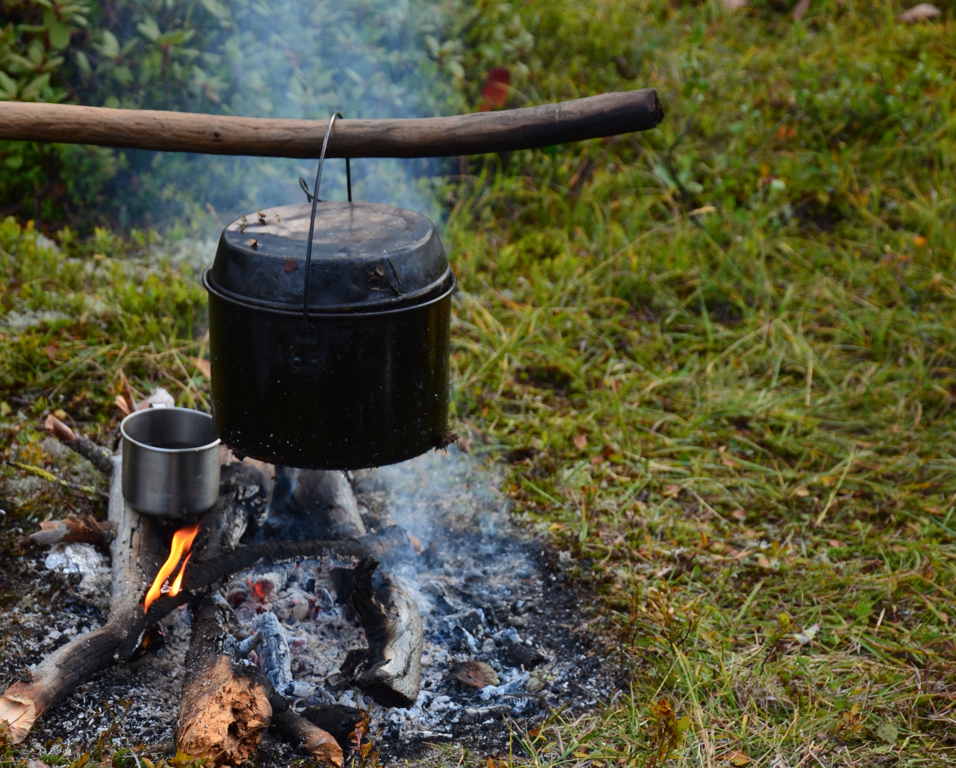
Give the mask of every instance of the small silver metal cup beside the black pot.
M 122 494 L 133 509 L 182 518 L 216 503 L 220 441 L 211 416 L 154 406 L 123 419 L 120 434 Z

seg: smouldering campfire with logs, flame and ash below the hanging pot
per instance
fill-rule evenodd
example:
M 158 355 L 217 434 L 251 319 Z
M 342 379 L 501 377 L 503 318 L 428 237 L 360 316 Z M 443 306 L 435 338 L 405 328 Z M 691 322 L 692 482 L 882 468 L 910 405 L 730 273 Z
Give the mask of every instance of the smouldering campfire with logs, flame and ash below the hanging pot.
M 259 747 L 340 765 L 373 737 L 395 755 L 462 738 L 500 749 L 511 719 L 615 690 L 560 563 L 515 536 L 493 479 L 459 451 L 350 474 L 224 451 L 216 505 L 184 522 L 133 511 L 119 456 L 48 428 L 111 468 L 108 520 L 70 516 L 33 540 L 108 547 L 110 613 L 0 699 L 17 741 L 79 721 L 80 696 L 130 698 L 124 668 L 183 680 L 173 702 L 136 689 L 130 743 L 232 765 Z

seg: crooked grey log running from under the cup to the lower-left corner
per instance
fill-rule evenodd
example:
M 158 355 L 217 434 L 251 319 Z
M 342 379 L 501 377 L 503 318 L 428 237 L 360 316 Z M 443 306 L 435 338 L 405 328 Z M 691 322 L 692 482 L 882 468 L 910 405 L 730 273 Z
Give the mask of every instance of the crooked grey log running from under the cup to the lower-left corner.
M 0 723 L 7 723 L 14 744 L 22 742 L 36 718 L 62 696 L 114 663 L 117 648 L 142 616 L 141 595 L 165 559 L 168 538 L 163 535 L 162 521 L 141 516 L 125 503 L 121 458 L 113 456 L 111 461 L 107 516 L 116 525 L 117 535 L 110 545 L 113 585 L 109 621 L 55 650 L 0 697 Z

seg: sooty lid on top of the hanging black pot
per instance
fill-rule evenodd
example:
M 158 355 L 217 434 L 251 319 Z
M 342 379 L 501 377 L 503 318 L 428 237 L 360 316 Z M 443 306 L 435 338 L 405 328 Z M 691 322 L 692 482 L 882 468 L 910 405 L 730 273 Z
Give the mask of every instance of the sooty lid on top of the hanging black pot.
M 302 307 L 312 205 L 263 208 L 223 230 L 209 271 L 213 289 L 252 304 Z M 430 293 L 448 270 L 435 225 L 377 203 L 320 202 L 309 306 L 382 310 Z

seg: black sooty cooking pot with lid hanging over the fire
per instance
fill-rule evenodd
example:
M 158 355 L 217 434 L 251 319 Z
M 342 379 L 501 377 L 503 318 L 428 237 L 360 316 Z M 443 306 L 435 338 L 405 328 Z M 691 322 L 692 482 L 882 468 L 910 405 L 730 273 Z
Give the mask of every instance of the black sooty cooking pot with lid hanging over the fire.
M 411 210 L 319 202 L 307 271 L 311 211 L 237 219 L 203 275 L 216 432 L 314 470 L 443 446 L 455 275 L 438 232 Z

